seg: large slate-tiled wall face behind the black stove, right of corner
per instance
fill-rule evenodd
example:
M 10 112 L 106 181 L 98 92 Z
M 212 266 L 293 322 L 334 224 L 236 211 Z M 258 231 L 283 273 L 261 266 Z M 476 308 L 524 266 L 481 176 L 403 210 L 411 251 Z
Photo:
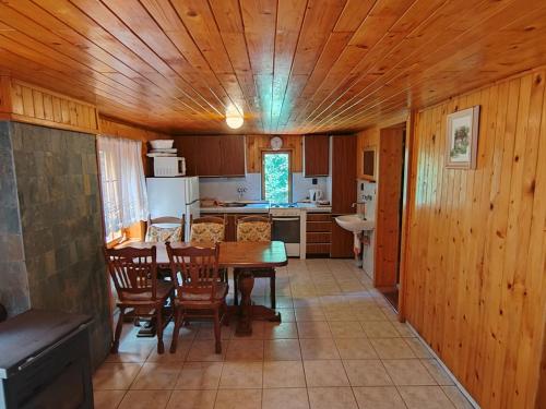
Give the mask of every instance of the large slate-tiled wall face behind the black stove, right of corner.
M 111 336 L 95 136 L 11 123 L 32 308 L 94 316 L 98 364 Z

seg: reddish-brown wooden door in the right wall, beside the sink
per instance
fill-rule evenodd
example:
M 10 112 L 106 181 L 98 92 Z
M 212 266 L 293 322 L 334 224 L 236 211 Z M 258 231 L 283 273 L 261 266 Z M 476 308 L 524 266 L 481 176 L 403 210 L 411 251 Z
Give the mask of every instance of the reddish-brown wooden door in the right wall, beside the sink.
M 380 130 L 375 287 L 399 310 L 406 124 Z

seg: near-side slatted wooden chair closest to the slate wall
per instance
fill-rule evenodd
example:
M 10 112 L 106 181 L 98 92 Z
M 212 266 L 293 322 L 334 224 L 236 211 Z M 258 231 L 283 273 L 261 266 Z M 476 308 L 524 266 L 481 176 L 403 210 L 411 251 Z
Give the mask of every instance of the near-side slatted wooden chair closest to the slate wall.
M 111 352 L 118 352 L 123 316 L 126 310 L 132 308 L 138 316 L 155 317 L 157 352 L 163 353 L 163 329 L 171 317 L 166 314 L 165 303 L 168 298 L 173 303 L 175 286 L 157 279 L 155 245 L 151 249 L 105 249 L 104 253 L 119 299 Z

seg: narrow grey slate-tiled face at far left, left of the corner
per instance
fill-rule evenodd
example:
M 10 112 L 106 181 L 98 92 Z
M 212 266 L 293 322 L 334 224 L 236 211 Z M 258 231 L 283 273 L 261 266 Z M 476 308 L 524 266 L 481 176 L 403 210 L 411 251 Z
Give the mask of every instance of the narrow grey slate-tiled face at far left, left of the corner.
M 31 298 L 24 263 L 13 164 L 11 124 L 0 121 L 0 303 L 13 316 L 28 310 Z

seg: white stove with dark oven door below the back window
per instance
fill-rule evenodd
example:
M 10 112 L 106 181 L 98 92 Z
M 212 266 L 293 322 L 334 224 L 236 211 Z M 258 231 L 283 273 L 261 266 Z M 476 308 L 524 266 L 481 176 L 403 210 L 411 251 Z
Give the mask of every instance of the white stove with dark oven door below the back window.
M 284 241 L 289 257 L 306 257 L 307 213 L 296 203 L 275 203 L 270 205 L 273 220 L 272 239 Z

